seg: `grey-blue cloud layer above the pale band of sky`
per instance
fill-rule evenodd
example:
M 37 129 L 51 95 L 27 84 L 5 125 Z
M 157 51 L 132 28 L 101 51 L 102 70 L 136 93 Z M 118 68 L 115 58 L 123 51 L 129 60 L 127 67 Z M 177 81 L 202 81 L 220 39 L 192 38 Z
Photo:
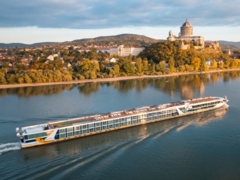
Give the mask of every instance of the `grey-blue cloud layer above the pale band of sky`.
M 0 3 L 0 27 L 101 29 L 239 26 L 238 0 L 11 0 Z

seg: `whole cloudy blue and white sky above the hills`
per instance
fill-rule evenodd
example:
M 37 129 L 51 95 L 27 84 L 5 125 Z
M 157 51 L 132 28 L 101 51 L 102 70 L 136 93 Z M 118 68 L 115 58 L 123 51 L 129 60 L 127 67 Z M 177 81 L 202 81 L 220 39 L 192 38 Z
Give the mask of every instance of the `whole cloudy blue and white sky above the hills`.
M 0 43 L 118 34 L 166 39 L 186 19 L 205 40 L 240 41 L 240 0 L 0 0 Z

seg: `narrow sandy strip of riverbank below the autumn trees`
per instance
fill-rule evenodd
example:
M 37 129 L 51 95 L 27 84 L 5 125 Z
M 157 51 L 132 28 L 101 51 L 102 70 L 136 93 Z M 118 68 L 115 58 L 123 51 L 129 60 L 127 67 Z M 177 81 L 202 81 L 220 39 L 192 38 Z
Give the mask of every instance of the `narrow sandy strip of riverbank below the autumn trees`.
M 182 76 L 182 75 L 190 75 L 190 74 L 208 74 L 208 73 L 218 73 L 218 72 L 229 72 L 229 71 L 240 71 L 240 69 L 211 70 L 211 71 L 205 71 L 205 72 L 179 72 L 179 73 L 171 73 L 171 74 L 163 74 L 163 75 L 124 76 L 124 77 L 116 77 L 116 78 L 86 79 L 86 80 L 65 81 L 65 82 L 5 84 L 5 85 L 0 85 L 0 89 L 61 85 L 61 84 L 80 84 L 80 83 L 89 83 L 89 82 L 110 82 L 110 81 L 122 81 L 122 80 L 130 80 L 130 79 L 160 78 L 160 77 Z

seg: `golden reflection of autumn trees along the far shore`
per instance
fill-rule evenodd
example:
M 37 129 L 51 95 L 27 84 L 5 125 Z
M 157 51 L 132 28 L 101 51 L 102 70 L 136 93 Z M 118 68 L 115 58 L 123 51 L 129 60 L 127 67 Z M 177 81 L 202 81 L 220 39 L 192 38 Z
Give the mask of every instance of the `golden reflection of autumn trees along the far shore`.
M 12 89 L 0 89 L 0 96 L 17 95 L 19 97 L 31 97 L 38 95 L 53 95 L 60 94 L 65 90 L 72 90 L 77 87 L 81 94 L 85 96 L 91 95 L 99 91 L 100 86 L 111 86 L 119 92 L 125 93 L 132 89 L 137 92 L 142 92 L 149 86 L 164 91 L 171 97 L 176 92 L 180 92 L 183 99 L 190 99 L 194 97 L 194 91 L 198 91 L 202 95 L 205 91 L 205 86 L 209 84 L 217 84 L 220 79 L 223 82 L 238 79 L 240 71 L 222 72 L 213 74 L 199 74 L 199 75 L 183 75 L 164 78 L 143 78 L 126 81 L 112 81 L 112 82 L 95 82 L 82 83 L 78 85 L 50 85 L 39 87 L 22 87 Z

